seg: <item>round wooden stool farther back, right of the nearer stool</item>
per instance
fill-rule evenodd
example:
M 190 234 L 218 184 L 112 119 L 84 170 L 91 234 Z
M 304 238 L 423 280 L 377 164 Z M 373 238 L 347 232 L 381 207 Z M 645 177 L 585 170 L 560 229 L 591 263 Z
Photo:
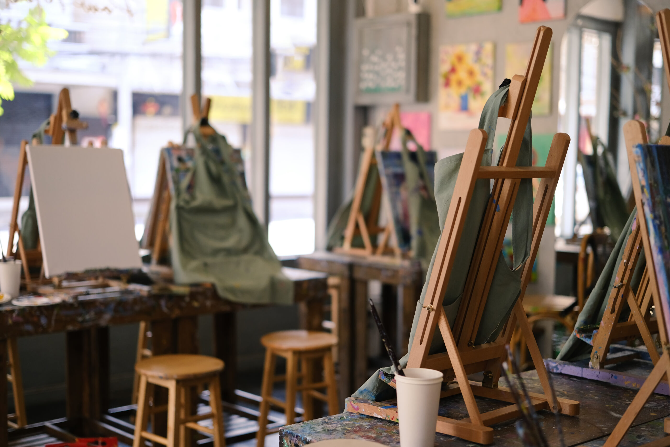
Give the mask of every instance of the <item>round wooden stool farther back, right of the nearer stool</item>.
M 265 367 L 263 369 L 263 389 L 261 389 L 261 416 L 258 420 L 257 445 L 265 445 L 267 434 L 267 413 L 270 405 L 284 409 L 286 425 L 293 424 L 295 419 L 295 395 L 302 391 L 303 420 L 314 419 L 312 398 L 328 403 L 328 413 L 339 412 L 335 369 L 333 366 L 332 347 L 337 344 L 337 337 L 327 332 L 313 330 L 281 330 L 261 337 L 265 346 Z M 277 356 L 286 359 L 286 375 L 275 376 L 275 360 Z M 314 382 L 314 361 L 323 359 L 325 380 Z M 298 366 L 300 370 L 298 371 Z M 298 379 L 302 384 L 298 385 Z M 275 382 L 286 382 L 286 401 L 272 397 Z M 326 394 L 316 391 L 326 388 Z

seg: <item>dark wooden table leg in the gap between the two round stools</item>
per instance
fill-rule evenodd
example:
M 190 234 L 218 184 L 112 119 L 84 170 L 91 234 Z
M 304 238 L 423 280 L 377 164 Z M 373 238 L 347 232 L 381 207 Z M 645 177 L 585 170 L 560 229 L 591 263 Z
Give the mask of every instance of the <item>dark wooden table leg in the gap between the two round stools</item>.
M 214 314 L 214 357 L 221 359 L 221 398 L 235 403 L 235 375 L 237 373 L 237 314 L 218 312 Z

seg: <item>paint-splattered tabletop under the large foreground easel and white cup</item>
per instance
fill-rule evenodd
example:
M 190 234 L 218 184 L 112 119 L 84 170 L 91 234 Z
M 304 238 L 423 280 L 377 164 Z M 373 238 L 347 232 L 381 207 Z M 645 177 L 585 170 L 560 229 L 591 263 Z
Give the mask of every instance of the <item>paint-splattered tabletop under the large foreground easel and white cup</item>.
M 535 371 L 523 373 L 529 391 L 541 392 Z M 637 390 L 616 387 L 607 383 L 589 381 L 563 375 L 552 374 L 553 385 L 559 397 L 580 401 L 579 416 L 561 416 L 561 427 L 566 446 L 602 446 L 604 437 L 614 430 L 614 426 L 626 411 Z M 509 405 L 490 399 L 477 398 L 482 411 Z M 355 399 L 349 402 L 355 405 Z M 467 418 L 462 397 L 452 396 L 440 402 L 440 414 L 450 418 Z M 662 438 L 663 418 L 670 416 L 670 397 L 655 394 L 645 405 L 634 427 L 620 446 L 640 446 L 646 442 Z M 549 411 L 540 411 L 545 436 L 550 446 L 558 446 L 557 424 Z M 515 431 L 514 421 L 493 426 L 494 445 L 521 447 L 523 444 Z M 279 431 L 279 445 L 297 447 L 327 439 L 354 438 L 379 442 L 387 446 L 399 446 L 398 424 L 387 420 L 344 412 L 335 416 L 285 426 Z M 471 442 L 437 434 L 435 446 L 471 446 Z

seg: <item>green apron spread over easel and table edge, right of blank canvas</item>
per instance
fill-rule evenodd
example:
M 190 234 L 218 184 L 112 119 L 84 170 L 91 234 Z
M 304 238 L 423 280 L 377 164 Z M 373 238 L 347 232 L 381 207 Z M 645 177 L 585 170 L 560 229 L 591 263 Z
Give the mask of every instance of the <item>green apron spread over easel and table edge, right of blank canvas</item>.
M 181 181 L 170 172 L 175 282 L 214 283 L 222 298 L 234 302 L 293 303 L 293 283 L 246 198 L 232 147 L 218 133 L 205 139 L 197 126 L 192 133 L 198 144 L 190 172 Z

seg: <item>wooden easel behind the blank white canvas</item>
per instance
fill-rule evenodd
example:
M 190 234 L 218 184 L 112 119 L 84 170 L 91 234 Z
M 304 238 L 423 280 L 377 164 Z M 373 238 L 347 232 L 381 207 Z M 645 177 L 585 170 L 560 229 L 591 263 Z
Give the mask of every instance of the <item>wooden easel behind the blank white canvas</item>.
M 79 120 L 79 114 L 72 110 L 70 103 L 70 90 L 63 88 L 58 95 L 58 106 L 56 113 L 52 114 L 49 119 L 49 125 L 44 130 L 46 135 L 51 136 L 52 145 L 64 144 L 65 135 L 68 136 L 68 141 L 71 145 L 77 143 L 77 131 L 79 129 L 87 129 L 88 123 Z M 33 144 L 38 144 L 37 139 L 32 141 Z M 28 166 L 28 157 L 25 150 L 28 142 L 24 139 L 21 141 L 21 151 L 19 152 L 19 168 L 16 175 L 16 184 L 14 187 L 14 203 L 11 208 L 11 220 L 9 220 L 9 240 L 7 241 L 7 256 L 14 256 L 18 254 L 17 258 L 21 259 L 23 263 L 23 275 L 26 288 L 34 287 L 34 281 L 30 277 L 30 265 L 39 267 L 42 265 L 42 248 L 40 247 L 40 239 L 36 249 L 26 250 L 23 245 L 23 238 L 21 231 L 19 231 L 19 202 L 21 200 L 21 190 L 23 189 L 23 180 L 25 180 L 25 169 Z M 14 253 L 14 235 L 19 235 L 19 253 Z M 44 279 L 44 267 L 40 273 L 40 281 Z M 39 281 L 38 281 L 39 283 Z

